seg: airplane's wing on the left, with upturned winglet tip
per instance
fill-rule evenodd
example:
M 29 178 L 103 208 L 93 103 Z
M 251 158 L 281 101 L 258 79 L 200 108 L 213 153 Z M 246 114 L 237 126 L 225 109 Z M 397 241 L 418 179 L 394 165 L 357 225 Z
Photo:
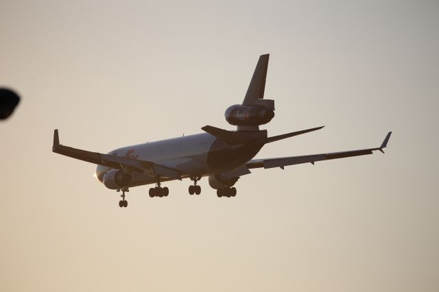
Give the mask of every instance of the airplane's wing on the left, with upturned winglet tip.
M 71 158 L 91 162 L 95 165 L 104 165 L 106 167 L 112 167 L 114 169 L 126 169 L 137 172 L 152 170 L 156 175 L 181 180 L 181 171 L 179 171 L 178 169 L 171 169 L 170 167 L 165 167 L 164 165 L 159 165 L 154 162 L 101 154 L 99 152 L 86 151 L 60 145 L 58 130 L 54 131 L 54 145 L 52 147 L 52 151 L 64 156 L 69 156 Z

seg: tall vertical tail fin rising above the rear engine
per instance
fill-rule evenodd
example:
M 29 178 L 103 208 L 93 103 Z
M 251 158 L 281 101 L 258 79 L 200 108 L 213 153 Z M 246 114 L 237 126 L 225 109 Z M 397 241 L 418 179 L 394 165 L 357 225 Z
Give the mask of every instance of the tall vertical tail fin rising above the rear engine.
M 258 64 L 254 69 L 252 81 L 250 81 L 250 85 L 248 86 L 247 89 L 246 97 L 242 102 L 243 106 L 252 106 L 254 104 L 254 101 L 256 101 L 256 99 L 263 99 L 269 58 L 270 58 L 269 53 L 259 57 Z

